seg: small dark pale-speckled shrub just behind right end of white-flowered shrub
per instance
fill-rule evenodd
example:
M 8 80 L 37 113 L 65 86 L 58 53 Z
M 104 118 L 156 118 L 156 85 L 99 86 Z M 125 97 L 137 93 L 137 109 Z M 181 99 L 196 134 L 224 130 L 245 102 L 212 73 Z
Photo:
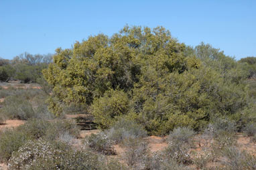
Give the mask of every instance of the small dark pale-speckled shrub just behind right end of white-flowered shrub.
M 115 155 L 115 149 L 112 143 L 107 139 L 103 133 L 91 134 L 84 139 L 86 147 L 92 149 L 92 151 L 97 151 L 104 155 Z

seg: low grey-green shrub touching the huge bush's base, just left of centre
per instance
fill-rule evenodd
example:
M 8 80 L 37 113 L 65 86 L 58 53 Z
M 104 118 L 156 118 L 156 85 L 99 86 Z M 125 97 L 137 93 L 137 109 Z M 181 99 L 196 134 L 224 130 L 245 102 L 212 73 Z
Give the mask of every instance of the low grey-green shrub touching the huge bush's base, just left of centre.
M 141 124 L 125 118 L 120 118 L 111 129 L 105 132 L 107 137 L 115 143 L 120 143 L 124 139 L 137 139 L 147 136 L 147 131 L 143 129 Z

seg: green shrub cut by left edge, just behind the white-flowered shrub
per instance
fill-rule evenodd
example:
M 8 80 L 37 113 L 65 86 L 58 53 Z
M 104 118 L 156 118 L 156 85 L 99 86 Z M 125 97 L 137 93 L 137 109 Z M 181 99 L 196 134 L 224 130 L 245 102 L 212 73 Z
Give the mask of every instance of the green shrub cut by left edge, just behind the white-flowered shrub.
M 17 151 L 31 136 L 24 131 L 5 129 L 0 133 L 0 161 L 7 162 L 13 151 Z

